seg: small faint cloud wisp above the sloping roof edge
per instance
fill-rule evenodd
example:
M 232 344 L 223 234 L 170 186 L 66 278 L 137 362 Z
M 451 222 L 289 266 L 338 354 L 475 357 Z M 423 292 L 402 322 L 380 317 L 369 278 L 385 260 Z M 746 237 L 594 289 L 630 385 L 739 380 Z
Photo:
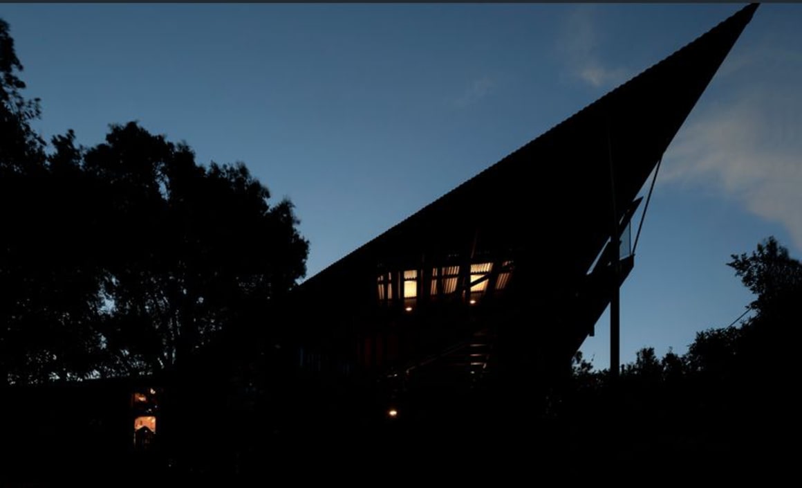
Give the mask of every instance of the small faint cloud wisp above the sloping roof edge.
M 577 6 L 565 22 L 558 50 L 573 76 L 592 87 L 614 87 L 631 75 L 623 67 L 606 67 L 598 53 L 600 36 L 593 16 L 597 7 Z

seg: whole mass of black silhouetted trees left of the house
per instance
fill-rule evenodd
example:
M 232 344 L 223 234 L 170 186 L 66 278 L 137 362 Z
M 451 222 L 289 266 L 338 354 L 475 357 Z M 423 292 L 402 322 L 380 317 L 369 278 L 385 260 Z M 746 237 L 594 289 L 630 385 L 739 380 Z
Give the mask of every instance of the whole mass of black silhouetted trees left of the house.
M 288 200 L 130 122 L 85 148 L 31 128 L 0 19 L 0 386 L 176 368 L 306 273 Z

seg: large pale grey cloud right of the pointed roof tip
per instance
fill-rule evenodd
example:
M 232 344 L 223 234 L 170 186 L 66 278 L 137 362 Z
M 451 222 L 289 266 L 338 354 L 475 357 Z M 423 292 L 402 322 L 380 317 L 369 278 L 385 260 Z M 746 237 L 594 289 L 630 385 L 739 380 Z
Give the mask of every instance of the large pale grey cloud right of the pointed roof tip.
M 712 185 L 780 223 L 802 249 L 802 59 L 792 53 L 777 63 L 782 52 L 736 56 L 719 72 L 715 81 L 729 89 L 688 120 L 661 179 Z

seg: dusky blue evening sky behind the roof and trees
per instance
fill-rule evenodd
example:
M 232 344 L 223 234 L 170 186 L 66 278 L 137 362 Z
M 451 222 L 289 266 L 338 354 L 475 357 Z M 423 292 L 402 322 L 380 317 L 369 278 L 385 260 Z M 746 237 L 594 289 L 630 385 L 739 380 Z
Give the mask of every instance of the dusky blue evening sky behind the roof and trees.
M 290 197 L 309 275 L 738 10 L 735 4 L 3 4 L 48 139 L 138 120 Z M 685 352 L 802 254 L 802 6 L 759 8 L 666 151 L 622 288 L 622 360 Z M 609 363 L 607 317 L 582 347 Z

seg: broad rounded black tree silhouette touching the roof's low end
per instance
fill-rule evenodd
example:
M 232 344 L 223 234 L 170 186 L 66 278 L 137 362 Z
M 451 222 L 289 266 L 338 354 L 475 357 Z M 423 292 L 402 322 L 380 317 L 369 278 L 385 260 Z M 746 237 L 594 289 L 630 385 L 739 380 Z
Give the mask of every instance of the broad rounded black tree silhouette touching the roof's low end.
M 225 325 L 257 319 L 249 314 L 305 273 L 290 201 L 270 207 L 245 165 L 205 169 L 185 144 L 134 123 L 113 126 L 84 161 L 109 190 L 115 236 L 103 334 L 130 372 L 176 367 Z

